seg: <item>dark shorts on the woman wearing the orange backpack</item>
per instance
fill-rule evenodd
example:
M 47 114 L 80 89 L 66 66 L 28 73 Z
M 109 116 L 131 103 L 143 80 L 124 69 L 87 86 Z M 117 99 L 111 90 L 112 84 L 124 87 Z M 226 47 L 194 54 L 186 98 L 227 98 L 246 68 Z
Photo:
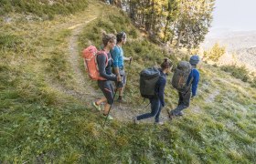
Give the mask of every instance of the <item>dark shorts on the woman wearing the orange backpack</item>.
M 103 95 L 107 98 L 108 104 L 113 103 L 113 86 L 110 80 L 98 80 L 98 87 L 101 88 Z

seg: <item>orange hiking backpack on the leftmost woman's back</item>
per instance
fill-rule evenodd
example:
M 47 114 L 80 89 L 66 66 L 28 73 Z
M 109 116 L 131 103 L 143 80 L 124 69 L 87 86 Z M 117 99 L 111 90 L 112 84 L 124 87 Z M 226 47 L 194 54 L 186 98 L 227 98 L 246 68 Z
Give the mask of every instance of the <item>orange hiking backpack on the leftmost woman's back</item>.
M 104 51 L 98 51 L 95 46 L 88 46 L 82 52 L 84 65 L 87 67 L 89 77 L 93 80 L 105 80 L 100 76 L 99 67 L 97 63 L 97 56 L 104 54 L 106 56 L 106 67 L 108 66 L 108 55 Z

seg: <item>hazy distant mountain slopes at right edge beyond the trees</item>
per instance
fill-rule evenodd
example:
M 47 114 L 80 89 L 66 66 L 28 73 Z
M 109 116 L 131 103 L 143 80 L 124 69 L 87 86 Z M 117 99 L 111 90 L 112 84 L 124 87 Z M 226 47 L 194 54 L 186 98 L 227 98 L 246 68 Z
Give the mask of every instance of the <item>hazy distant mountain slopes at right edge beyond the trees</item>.
M 256 31 L 213 30 L 201 44 L 207 50 L 215 43 L 226 46 L 227 54 L 219 60 L 220 64 L 237 64 L 256 72 Z

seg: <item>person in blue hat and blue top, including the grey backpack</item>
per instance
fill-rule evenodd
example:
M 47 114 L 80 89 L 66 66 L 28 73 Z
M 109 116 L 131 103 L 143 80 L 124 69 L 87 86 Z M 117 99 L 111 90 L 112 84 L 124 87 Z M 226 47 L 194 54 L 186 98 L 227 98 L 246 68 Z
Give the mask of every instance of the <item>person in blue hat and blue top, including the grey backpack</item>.
M 190 99 L 197 95 L 197 85 L 200 77 L 197 70 L 198 62 L 199 56 L 194 55 L 190 57 L 189 63 L 181 61 L 176 68 L 172 78 L 172 85 L 178 91 L 179 99 L 178 106 L 170 112 L 171 118 L 183 116 L 182 110 L 188 108 Z

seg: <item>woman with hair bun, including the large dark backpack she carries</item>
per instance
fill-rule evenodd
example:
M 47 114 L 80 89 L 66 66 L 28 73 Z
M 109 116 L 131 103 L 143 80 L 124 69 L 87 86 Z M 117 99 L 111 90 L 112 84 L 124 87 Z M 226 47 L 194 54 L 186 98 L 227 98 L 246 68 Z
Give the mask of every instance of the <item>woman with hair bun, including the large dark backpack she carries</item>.
M 133 117 L 133 122 L 138 123 L 138 120 L 144 118 L 155 117 L 155 124 L 162 125 L 163 122 L 159 120 L 162 108 L 165 107 L 165 84 L 166 75 L 171 71 L 172 63 L 165 58 L 161 64 L 161 68 L 155 67 L 144 69 L 140 77 L 140 91 L 142 97 L 149 98 L 151 104 L 151 112 L 143 115 Z

